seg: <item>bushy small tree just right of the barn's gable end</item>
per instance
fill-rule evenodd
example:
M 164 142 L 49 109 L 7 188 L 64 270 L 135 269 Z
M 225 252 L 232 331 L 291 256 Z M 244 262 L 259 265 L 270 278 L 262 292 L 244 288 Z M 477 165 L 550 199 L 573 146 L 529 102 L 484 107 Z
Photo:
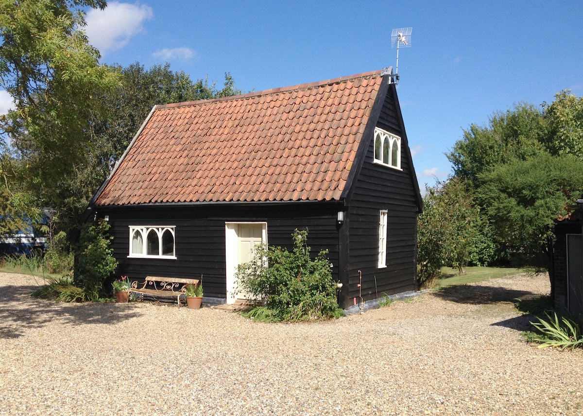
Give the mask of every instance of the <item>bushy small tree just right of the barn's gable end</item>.
M 431 285 L 444 266 L 464 272 L 493 260 L 494 246 L 472 190 L 457 177 L 427 187 L 418 223 L 418 285 Z

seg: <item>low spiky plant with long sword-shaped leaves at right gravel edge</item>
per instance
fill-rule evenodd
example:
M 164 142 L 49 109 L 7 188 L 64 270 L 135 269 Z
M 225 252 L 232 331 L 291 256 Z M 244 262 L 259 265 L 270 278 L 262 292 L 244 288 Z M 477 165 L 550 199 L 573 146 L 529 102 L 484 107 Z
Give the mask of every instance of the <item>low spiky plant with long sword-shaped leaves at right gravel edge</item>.
M 538 323 L 531 324 L 537 328 L 542 335 L 535 335 L 531 339 L 535 342 L 540 342 L 539 348 L 558 347 L 566 348 L 583 348 L 583 335 L 581 335 L 581 327 L 575 321 L 567 317 L 557 317 L 554 312 L 554 319 L 546 312 L 547 319 L 537 317 Z

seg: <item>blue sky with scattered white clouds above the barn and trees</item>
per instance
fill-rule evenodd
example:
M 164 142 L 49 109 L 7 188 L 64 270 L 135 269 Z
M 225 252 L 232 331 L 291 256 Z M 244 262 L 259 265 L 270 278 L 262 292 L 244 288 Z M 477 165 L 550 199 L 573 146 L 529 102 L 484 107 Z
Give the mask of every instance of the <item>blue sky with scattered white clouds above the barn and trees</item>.
M 581 1 L 109 2 L 87 15 L 102 62 L 169 62 L 192 79 L 245 92 L 395 66 L 391 30 L 413 27 L 399 51 L 399 102 L 420 187 L 445 179 L 444 153 L 471 123 L 570 89 L 583 96 Z

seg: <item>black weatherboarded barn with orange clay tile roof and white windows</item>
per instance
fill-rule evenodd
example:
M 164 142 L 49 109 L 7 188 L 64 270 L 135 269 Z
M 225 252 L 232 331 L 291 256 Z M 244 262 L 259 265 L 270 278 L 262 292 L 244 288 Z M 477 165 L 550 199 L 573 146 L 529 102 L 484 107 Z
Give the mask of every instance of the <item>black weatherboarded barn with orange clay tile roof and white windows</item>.
M 307 228 L 340 306 L 414 290 L 422 199 L 385 72 L 155 106 L 89 207 L 118 274 L 202 274 L 205 298 L 231 303 L 255 244 Z

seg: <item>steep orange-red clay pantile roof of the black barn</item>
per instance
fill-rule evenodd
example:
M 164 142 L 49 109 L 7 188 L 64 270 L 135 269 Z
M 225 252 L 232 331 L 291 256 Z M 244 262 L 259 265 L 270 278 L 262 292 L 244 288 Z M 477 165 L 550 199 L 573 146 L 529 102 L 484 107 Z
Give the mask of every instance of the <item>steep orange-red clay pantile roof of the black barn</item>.
M 339 200 L 381 79 L 156 106 L 94 204 Z

